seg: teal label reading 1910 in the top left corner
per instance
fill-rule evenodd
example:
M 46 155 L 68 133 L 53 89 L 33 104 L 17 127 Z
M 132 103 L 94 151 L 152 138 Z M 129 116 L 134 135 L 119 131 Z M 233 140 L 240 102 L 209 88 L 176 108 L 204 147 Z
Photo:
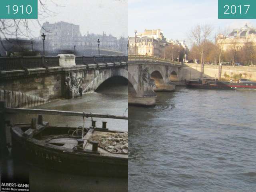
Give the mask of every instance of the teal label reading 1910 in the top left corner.
M 0 19 L 37 18 L 37 0 L 0 0 Z

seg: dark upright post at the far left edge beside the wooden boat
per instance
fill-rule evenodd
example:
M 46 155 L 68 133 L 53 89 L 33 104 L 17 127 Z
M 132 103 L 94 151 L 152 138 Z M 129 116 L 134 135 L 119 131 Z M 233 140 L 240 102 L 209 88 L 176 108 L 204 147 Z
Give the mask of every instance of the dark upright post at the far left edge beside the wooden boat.
M 8 149 L 6 147 L 5 108 L 6 103 L 0 101 L 0 154 L 8 154 Z M 2 156 L 3 155 L 1 155 L 1 157 Z

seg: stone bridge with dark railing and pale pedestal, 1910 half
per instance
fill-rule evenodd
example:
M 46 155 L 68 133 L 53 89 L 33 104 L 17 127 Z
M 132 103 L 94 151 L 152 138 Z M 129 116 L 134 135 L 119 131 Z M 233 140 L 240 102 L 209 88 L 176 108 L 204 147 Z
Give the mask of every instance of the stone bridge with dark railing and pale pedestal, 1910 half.
M 0 57 L 0 89 L 42 99 L 94 92 L 114 76 L 128 79 L 127 56 Z

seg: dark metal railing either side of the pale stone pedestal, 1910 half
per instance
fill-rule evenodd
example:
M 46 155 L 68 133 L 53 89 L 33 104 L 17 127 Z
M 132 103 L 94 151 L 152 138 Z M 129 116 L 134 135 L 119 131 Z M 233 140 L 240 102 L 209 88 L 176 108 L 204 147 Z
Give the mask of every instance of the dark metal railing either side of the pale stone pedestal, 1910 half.
M 0 57 L 0 71 L 59 66 L 60 57 Z M 76 56 L 76 65 L 128 62 L 127 56 Z

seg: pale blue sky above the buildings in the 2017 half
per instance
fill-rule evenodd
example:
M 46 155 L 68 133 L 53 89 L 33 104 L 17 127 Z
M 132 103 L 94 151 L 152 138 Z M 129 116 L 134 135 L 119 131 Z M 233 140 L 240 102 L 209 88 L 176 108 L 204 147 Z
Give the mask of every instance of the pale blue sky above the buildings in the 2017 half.
M 230 30 L 245 23 L 256 27 L 256 19 L 218 19 L 218 0 L 128 0 L 128 35 L 145 28 L 163 31 L 169 39 L 186 40 L 196 24 L 212 24 Z

